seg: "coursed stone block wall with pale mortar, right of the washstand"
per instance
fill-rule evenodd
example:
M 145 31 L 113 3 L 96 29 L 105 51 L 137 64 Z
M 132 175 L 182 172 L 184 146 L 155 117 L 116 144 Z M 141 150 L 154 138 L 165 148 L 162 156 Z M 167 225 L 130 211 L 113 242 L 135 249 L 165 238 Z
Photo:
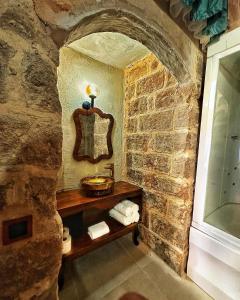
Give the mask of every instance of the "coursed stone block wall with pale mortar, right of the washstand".
M 125 178 L 144 189 L 141 233 L 175 271 L 188 255 L 200 85 L 150 54 L 125 70 Z

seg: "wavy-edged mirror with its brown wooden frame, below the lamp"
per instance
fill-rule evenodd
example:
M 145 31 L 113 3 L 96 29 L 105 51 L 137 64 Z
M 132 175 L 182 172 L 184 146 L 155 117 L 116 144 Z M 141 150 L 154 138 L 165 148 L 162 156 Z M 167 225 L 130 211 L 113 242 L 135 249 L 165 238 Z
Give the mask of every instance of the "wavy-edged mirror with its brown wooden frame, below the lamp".
M 81 109 L 73 113 L 76 126 L 76 141 L 73 150 L 75 160 L 87 160 L 93 164 L 113 155 L 113 116 L 99 108 Z

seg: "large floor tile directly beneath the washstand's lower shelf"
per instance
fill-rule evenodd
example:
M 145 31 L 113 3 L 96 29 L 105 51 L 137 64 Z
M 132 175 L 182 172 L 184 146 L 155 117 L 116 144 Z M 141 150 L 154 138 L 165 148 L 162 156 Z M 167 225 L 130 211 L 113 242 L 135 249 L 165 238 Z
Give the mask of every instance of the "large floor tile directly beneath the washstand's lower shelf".
M 73 262 L 73 278 L 80 299 L 105 295 L 138 271 L 133 259 L 112 242 Z

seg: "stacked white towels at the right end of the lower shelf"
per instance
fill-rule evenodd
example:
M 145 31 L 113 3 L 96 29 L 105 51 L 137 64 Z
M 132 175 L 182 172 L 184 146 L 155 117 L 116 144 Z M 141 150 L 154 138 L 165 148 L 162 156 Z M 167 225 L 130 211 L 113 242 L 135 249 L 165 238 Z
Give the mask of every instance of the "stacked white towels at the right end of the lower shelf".
M 139 221 L 139 206 L 129 200 L 124 200 L 113 209 L 109 211 L 109 215 L 120 222 L 121 224 L 128 226 L 132 223 Z

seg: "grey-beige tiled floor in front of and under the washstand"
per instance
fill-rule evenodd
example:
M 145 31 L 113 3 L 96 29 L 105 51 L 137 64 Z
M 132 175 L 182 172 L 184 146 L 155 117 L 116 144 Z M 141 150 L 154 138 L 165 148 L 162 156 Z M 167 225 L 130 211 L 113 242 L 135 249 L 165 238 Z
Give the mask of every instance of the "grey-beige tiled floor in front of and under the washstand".
M 118 300 L 126 292 L 149 300 L 209 300 L 190 280 L 181 279 L 141 243 L 125 236 L 76 259 L 65 272 L 60 300 Z

